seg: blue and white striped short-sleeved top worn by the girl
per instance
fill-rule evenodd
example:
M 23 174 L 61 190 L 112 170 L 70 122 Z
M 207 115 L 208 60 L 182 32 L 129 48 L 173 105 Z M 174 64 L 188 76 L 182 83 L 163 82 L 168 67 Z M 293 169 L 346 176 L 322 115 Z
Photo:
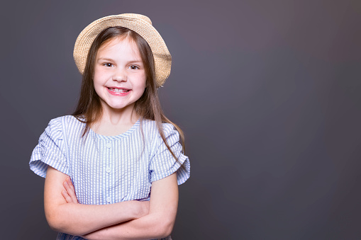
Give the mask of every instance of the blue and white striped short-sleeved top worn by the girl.
M 51 120 L 29 163 L 30 169 L 44 178 L 48 165 L 70 176 L 81 204 L 149 200 L 152 181 L 176 171 L 179 185 L 189 178 L 189 159 L 182 154 L 179 133 L 171 124 L 162 127 L 178 161 L 152 120 L 138 120 L 127 132 L 112 137 L 92 130 L 82 137 L 84 127 L 72 115 Z M 57 239 L 78 237 L 59 234 Z

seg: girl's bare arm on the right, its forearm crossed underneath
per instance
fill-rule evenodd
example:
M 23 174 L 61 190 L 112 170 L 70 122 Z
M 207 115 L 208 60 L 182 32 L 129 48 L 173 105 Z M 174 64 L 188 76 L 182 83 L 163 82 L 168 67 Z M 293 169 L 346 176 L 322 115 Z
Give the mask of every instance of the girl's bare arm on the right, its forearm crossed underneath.
M 86 239 L 159 239 L 172 232 L 178 207 L 177 173 L 152 183 L 149 214 L 106 227 Z

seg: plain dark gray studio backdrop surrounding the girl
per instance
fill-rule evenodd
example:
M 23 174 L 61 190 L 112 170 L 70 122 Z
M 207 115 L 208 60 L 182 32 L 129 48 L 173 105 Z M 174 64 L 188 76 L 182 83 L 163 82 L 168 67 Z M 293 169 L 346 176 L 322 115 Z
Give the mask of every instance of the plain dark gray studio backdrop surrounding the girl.
M 72 113 L 91 21 L 143 13 L 165 39 L 167 116 L 187 137 L 174 239 L 360 239 L 361 1 L 1 4 L 1 239 L 55 239 L 28 168 Z

